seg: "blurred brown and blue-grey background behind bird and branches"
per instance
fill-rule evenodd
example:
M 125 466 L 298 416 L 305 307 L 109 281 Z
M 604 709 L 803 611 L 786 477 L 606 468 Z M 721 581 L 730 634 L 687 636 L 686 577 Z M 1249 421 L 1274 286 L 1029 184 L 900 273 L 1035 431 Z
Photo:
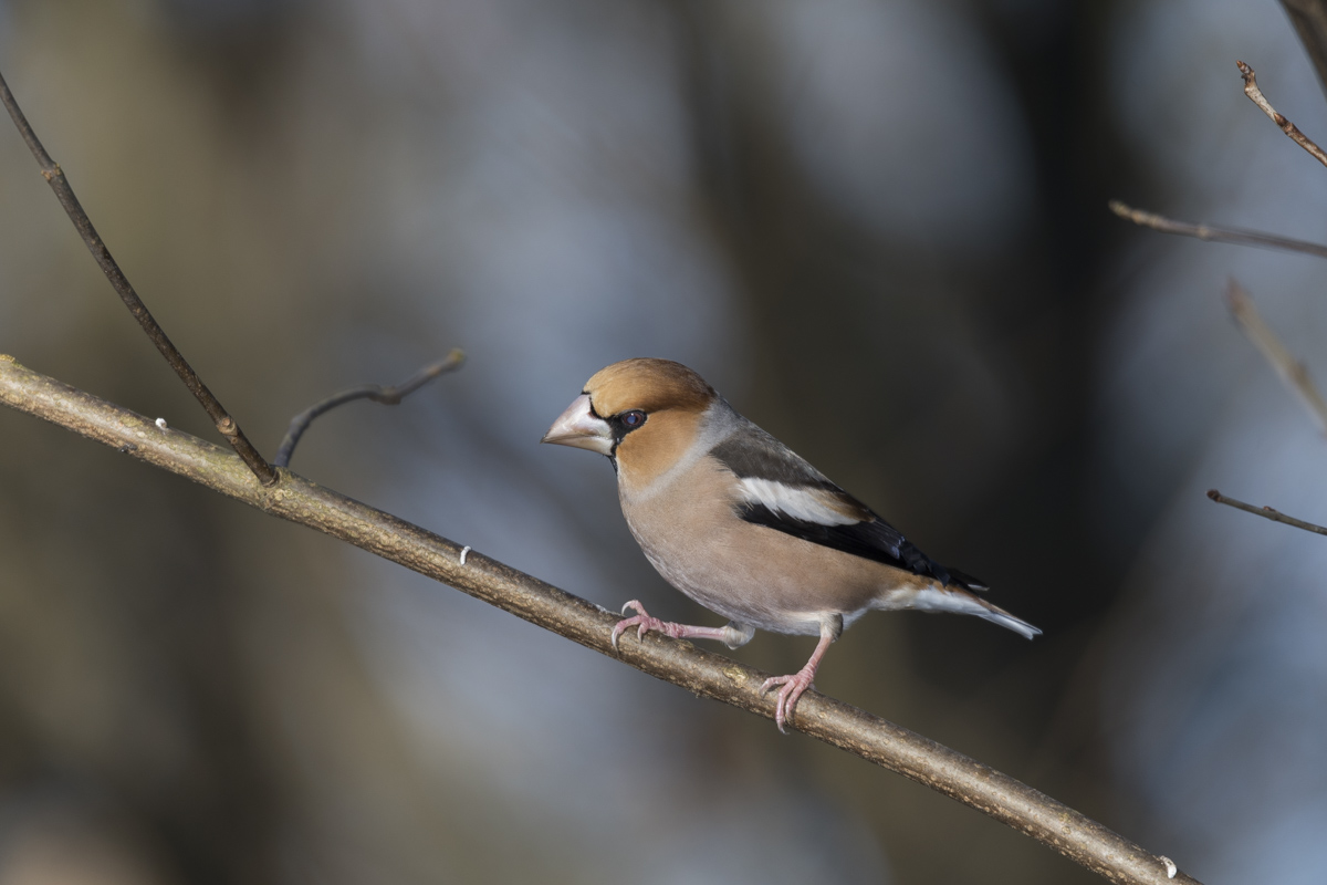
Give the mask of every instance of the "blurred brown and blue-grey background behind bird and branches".
M 717 624 L 609 464 L 536 441 L 699 370 L 1035 642 L 864 618 L 817 686 L 1208 882 L 1327 880 L 1327 135 L 1273 0 L 0 0 L 0 65 L 271 455 L 601 605 Z M 5 121 L 0 353 L 208 439 Z M 910 782 L 0 413 L 0 884 L 1096 882 Z M 812 640 L 735 657 L 800 666 Z

